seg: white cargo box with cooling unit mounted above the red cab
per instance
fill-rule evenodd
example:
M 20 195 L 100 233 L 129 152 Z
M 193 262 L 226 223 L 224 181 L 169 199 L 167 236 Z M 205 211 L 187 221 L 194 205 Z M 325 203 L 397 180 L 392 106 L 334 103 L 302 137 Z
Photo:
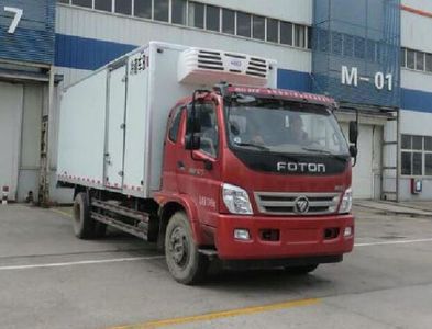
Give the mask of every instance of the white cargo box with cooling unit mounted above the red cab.
M 220 81 L 276 88 L 276 73 L 265 58 L 151 42 L 64 91 L 58 180 L 151 197 L 178 100 Z

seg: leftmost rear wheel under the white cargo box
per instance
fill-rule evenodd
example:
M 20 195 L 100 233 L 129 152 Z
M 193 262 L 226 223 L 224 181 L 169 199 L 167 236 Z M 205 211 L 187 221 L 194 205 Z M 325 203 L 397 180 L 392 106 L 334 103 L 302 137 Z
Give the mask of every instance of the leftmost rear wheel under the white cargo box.
M 95 220 L 90 217 L 89 197 L 87 193 L 80 192 L 74 202 L 74 231 L 79 239 L 95 238 Z

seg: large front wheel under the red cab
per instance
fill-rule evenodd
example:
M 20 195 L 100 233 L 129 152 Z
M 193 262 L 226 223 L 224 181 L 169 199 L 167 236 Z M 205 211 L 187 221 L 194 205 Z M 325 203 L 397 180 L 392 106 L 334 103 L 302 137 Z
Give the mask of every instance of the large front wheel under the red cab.
M 169 219 L 165 232 L 165 258 L 169 272 L 179 283 L 193 285 L 206 276 L 209 260 L 198 252 L 184 212 L 175 213 Z

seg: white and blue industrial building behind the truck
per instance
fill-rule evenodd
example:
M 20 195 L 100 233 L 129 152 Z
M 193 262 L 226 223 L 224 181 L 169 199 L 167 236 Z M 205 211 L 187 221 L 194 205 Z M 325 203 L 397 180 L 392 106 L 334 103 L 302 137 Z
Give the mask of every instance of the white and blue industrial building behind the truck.
M 358 113 L 355 197 L 432 200 L 430 31 L 427 0 L 3 0 L 0 186 L 70 201 L 55 186 L 62 89 L 157 39 L 276 59 L 278 87 L 333 97 L 345 133 Z

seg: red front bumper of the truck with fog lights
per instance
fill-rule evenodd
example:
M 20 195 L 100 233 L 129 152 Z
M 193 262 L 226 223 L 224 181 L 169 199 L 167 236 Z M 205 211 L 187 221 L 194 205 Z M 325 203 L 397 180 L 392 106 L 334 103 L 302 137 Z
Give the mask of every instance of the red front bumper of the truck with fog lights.
M 314 217 L 265 217 L 217 215 L 214 242 L 222 260 L 279 259 L 342 256 L 353 250 L 353 215 Z M 344 229 L 352 235 L 344 237 Z M 235 229 L 247 229 L 250 240 L 234 238 Z M 268 240 L 265 232 L 278 232 L 278 239 Z M 329 230 L 333 235 L 329 236 Z M 335 234 L 337 232 L 337 234 Z

